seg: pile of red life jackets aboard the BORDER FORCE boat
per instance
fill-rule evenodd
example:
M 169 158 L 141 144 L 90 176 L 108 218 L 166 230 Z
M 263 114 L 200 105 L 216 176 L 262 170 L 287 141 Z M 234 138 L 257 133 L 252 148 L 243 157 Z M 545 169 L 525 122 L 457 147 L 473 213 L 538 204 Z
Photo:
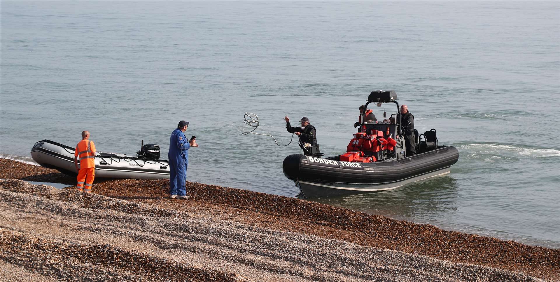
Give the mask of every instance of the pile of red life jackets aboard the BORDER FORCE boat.
M 354 138 L 346 147 L 346 154 L 340 155 L 340 160 L 373 163 L 377 158 L 372 155 L 378 155 L 378 152 L 385 150 L 395 150 L 395 145 L 396 141 L 393 138 L 385 138 L 379 130 L 371 130 L 367 135 L 365 132 L 354 133 Z

